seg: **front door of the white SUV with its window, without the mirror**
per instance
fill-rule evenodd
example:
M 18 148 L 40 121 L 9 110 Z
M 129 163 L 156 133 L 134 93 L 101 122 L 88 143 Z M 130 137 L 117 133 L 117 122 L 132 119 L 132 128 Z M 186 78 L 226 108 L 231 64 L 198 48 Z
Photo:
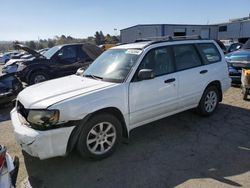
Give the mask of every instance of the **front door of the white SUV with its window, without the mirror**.
M 155 78 L 139 81 L 142 69 L 152 69 Z M 173 112 L 178 107 L 178 77 L 168 47 L 150 50 L 129 86 L 130 124 L 139 126 Z

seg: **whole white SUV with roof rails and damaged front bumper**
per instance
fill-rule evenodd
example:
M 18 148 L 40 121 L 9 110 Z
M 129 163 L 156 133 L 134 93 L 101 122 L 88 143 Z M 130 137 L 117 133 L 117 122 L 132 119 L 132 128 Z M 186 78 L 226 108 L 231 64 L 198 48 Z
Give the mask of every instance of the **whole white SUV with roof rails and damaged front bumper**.
M 212 40 L 144 41 L 113 47 L 82 76 L 24 89 L 11 111 L 17 142 L 32 156 L 109 156 L 141 125 L 196 108 L 213 114 L 230 87 Z

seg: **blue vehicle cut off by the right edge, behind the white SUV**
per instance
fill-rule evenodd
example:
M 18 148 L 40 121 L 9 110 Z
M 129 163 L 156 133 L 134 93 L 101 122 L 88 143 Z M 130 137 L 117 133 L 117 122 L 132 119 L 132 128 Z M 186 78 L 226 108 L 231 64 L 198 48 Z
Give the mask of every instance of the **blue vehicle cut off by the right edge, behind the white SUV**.
M 232 83 L 241 83 L 242 69 L 250 69 L 250 40 L 243 45 L 242 49 L 226 54 L 225 58 Z

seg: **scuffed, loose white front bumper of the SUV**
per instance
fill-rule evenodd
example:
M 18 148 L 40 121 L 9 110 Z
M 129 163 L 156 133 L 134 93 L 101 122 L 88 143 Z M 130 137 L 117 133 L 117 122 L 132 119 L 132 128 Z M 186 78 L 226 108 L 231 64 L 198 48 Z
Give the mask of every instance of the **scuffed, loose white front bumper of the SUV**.
M 17 142 L 29 155 L 40 159 L 66 155 L 68 140 L 75 126 L 48 131 L 34 130 L 22 123 L 16 108 L 11 111 L 11 121 Z

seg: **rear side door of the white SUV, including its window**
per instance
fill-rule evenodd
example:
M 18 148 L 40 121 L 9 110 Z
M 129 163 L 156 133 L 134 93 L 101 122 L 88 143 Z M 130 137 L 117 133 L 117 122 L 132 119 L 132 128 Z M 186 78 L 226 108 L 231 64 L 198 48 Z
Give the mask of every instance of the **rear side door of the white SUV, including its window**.
M 179 77 L 178 98 L 180 109 L 188 109 L 199 103 L 207 85 L 208 68 L 193 44 L 173 46 L 176 71 Z

